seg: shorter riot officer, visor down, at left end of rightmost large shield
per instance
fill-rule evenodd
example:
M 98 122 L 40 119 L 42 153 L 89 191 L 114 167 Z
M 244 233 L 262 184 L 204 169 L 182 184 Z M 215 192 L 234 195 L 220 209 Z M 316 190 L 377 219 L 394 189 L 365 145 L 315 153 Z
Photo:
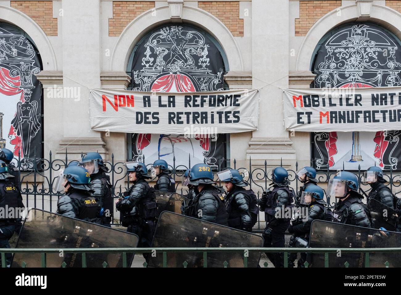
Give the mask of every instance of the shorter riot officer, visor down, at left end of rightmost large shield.
M 323 200 L 324 191 L 317 185 L 308 185 L 302 192 L 299 205 L 302 206 L 298 216 L 294 216 L 291 220 L 291 225 L 288 231 L 293 234 L 290 238 L 290 247 L 305 248 L 308 245 L 309 231 L 312 221 L 326 219 L 326 205 Z M 302 210 L 308 208 L 307 213 Z M 308 214 L 308 216 L 306 216 Z M 294 267 L 294 262 L 297 253 L 290 254 L 289 266 Z M 304 267 L 306 261 L 306 253 L 301 253 L 301 258 L 298 260 L 298 267 Z

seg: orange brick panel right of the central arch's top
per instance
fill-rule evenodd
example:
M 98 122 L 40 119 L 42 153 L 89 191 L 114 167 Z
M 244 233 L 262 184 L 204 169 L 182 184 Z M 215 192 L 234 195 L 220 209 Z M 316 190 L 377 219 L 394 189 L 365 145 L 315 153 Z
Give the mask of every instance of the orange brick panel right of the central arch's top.
M 239 2 L 198 2 L 198 8 L 210 12 L 229 28 L 233 36 L 243 37 L 244 20 L 239 18 Z

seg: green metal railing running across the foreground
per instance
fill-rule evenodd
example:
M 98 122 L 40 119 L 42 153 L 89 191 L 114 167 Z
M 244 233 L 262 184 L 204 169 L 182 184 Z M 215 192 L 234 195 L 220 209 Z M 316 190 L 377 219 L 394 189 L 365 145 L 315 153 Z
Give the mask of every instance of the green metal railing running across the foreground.
M 366 253 L 365 267 L 369 267 L 369 253 L 370 252 L 401 252 L 401 248 L 68 248 L 68 249 L 0 249 L 0 256 L 2 260 L 1 267 L 6 267 L 6 253 L 16 253 L 16 252 L 31 252 L 31 253 L 41 253 L 41 267 L 46 267 L 46 253 L 59 253 L 63 251 L 65 253 L 81 253 L 82 255 L 82 267 L 86 267 L 86 254 L 90 252 L 119 252 L 122 253 L 123 267 L 129 267 L 127 265 L 127 253 L 156 253 L 160 252 L 163 255 L 163 267 L 167 266 L 167 253 L 168 252 L 203 252 L 203 258 L 205 260 L 204 266 L 207 267 L 207 253 L 210 252 L 242 252 L 243 253 L 243 263 L 244 267 L 247 267 L 247 257 L 248 253 L 253 252 L 284 252 L 284 267 L 288 267 L 288 253 L 324 253 L 325 255 L 325 267 L 328 267 L 328 253 L 337 252 L 364 252 Z M 60 267 L 65 267 L 66 264 Z M 348 267 L 348 263 L 345 262 L 344 266 Z M 144 262 L 144 267 L 147 266 Z M 308 262 L 305 262 L 305 267 L 308 267 Z M 183 266 L 186 267 L 186 261 L 184 261 Z M 263 264 L 264 267 L 268 267 L 268 263 Z M 389 267 L 389 262 L 384 262 L 385 267 Z M 22 267 L 26 267 L 26 264 L 22 264 Z M 103 267 L 107 267 L 107 263 L 103 263 Z M 225 261 L 223 267 L 229 267 L 229 263 Z

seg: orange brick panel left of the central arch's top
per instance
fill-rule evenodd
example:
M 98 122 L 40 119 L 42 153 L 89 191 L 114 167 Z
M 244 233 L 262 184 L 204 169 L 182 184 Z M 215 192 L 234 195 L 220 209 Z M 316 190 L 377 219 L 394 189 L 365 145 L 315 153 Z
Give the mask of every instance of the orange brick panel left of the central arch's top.
M 154 8 L 154 2 L 113 1 L 113 18 L 109 19 L 109 36 L 119 36 L 142 12 Z

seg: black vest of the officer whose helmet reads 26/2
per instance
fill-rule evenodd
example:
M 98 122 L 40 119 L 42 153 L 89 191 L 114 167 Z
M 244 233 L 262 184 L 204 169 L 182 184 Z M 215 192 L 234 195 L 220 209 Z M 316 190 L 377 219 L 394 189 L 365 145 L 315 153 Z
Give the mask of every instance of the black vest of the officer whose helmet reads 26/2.
M 213 187 L 210 185 L 205 187 L 205 189 L 203 189 L 200 193 L 198 193 L 196 195 L 196 197 L 194 197 L 190 201 L 190 205 L 188 206 L 189 208 L 187 211 L 188 216 L 200 219 L 200 217 L 198 216 L 198 212 L 199 212 L 199 210 L 201 210 L 201 208 L 199 208 L 198 201 L 199 201 L 199 198 L 201 197 L 201 195 L 203 195 L 206 192 L 211 193 L 218 202 L 215 223 L 221 224 L 221 225 L 228 225 L 228 214 L 227 214 L 227 211 L 225 208 L 224 198 L 221 195 L 219 195 L 219 193 L 218 193 L 219 191 L 216 187 Z

